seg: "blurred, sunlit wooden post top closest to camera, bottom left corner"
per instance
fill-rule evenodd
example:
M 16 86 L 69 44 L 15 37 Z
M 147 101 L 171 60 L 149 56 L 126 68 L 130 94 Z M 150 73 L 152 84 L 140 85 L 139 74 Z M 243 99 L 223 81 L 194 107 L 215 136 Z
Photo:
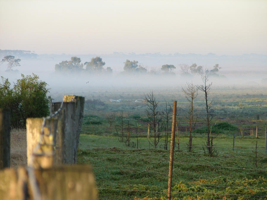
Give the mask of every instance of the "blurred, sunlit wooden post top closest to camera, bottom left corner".
M 98 199 L 90 165 L 4 169 L 0 170 L 0 180 L 1 200 Z

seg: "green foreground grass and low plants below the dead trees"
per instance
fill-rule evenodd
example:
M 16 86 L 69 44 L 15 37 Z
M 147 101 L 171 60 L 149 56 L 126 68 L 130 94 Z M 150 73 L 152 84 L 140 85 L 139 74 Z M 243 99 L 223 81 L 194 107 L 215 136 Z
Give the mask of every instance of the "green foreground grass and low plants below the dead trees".
M 267 177 L 267 158 L 266 154 L 263 152 L 265 151 L 265 140 L 258 139 L 257 169 L 262 170 L 254 170 L 256 166 L 255 150 L 253 149 L 255 149 L 256 138 L 247 137 L 236 139 L 236 148 L 240 147 L 244 150 L 236 149 L 236 151 L 233 152 L 231 149 L 232 140 L 219 137 L 214 140 L 218 147 L 223 147 L 217 148 L 219 151 L 218 156 L 207 156 L 204 154 L 201 145 L 204 140 L 204 137 L 195 137 L 193 139 L 193 145 L 196 145 L 196 147 L 193 148 L 193 152 L 189 153 L 186 148 L 188 137 L 180 137 L 180 151 L 178 151 L 177 148 L 175 148 L 174 151 L 173 196 L 175 198 L 181 199 L 187 195 L 192 198 L 196 198 L 196 195 L 208 199 L 212 198 L 211 194 L 208 196 L 207 194 L 203 195 L 203 193 L 195 193 L 195 191 L 250 195 L 253 192 L 248 193 L 248 189 L 245 189 L 244 192 L 244 188 L 239 188 L 240 191 L 228 188 L 229 191 L 226 192 L 225 187 L 209 186 L 227 186 L 227 184 L 231 182 L 231 187 L 238 188 L 241 187 L 240 184 L 237 184 L 238 181 L 245 181 L 246 179 L 258 180 L 257 183 L 253 183 L 250 187 L 266 188 L 267 180 L 262 180 L 260 178 Z M 146 196 L 156 196 L 157 198 L 161 196 L 166 197 L 169 150 L 149 148 L 147 138 L 144 137 L 140 138 L 139 141 L 142 148 L 134 149 L 123 145 L 124 143 L 120 143 L 117 137 L 80 135 L 78 163 L 92 164 L 96 177 L 96 184 L 97 187 L 100 188 L 100 199 L 134 199 L 135 196 L 139 198 Z M 199 144 L 199 146 L 197 144 Z M 249 170 L 244 170 L 243 168 Z M 225 181 L 222 182 L 220 180 Z M 200 184 L 201 181 L 203 183 Z M 186 190 L 187 193 L 177 193 L 181 192 L 182 184 L 185 184 L 182 190 Z M 202 189 L 196 189 L 196 187 L 200 186 Z M 250 188 L 250 190 L 255 192 L 254 196 L 266 195 L 263 189 L 256 190 L 255 188 Z M 191 191 L 191 193 L 189 193 L 189 191 Z M 223 195 L 217 196 L 220 196 L 220 198 L 218 198 L 222 199 Z M 227 198 L 231 197 L 232 199 L 237 199 L 239 197 L 225 196 Z M 244 199 L 258 198 L 244 196 Z

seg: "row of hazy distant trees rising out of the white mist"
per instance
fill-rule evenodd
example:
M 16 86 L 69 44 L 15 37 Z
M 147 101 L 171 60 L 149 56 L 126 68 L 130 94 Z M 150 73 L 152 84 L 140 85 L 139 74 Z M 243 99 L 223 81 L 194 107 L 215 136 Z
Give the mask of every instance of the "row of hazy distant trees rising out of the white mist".
M 18 70 L 13 70 L 14 67 L 20 66 L 20 59 L 15 59 L 15 56 L 8 55 L 4 56 L 4 58 L 1 60 L 2 63 L 7 63 L 7 72 L 18 72 Z M 102 60 L 101 57 L 93 57 L 90 62 L 82 63 L 81 59 L 79 57 L 71 57 L 71 60 L 63 60 L 62 62 L 55 64 L 55 72 L 58 73 L 80 73 L 80 72 L 88 72 L 90 74 L 111 74 L 112 68 L 107 67 L 104 68 L 104 65 L 106 63 Z M 147 68 L 144 68 L 142 65 L 138 63 L 138 61 L 134 60 L 126 60 L 124 62 L 123 72 L 125 74 L 132 74 L 132 73 L 138 73 L 138 74 L 150 74 L 150 75 L 174 75 L 175 73 L 173 70 L 176 69 L 174 65 L 162 65 L 160 70 L 156 70 L 155 68 L 152 68 L 150 71 L 147 70 Z M 216 64 L 213 66 L 212 69 L 204 68 L 201 65 L 197 65 L 196 63 L 192 64 L 191 66 L 187 64 L 181 64 L 180 70 L 182 76 L 192 76 L 192 75 L 209 75 L 209 76 L 219 76 L 217 72 L 221 67 L 219 64 Z

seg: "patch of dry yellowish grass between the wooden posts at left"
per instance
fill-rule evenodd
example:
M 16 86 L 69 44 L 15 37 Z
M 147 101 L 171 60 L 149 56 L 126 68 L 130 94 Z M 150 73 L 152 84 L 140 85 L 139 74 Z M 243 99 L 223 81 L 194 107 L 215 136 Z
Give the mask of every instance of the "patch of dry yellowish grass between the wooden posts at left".
M 26 129 L 10 131 L 10 167 L 18 168 L 27 164 Z

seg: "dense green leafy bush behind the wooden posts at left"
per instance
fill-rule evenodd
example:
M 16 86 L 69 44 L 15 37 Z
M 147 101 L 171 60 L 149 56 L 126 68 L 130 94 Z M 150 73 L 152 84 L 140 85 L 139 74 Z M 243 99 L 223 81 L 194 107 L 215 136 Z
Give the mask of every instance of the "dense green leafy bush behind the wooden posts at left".
M 52 98 L 47 96 L 47 83 L 39 81 L 39 76 L 21 74 L 21 77 L 10 88 L 8 79 L 1 76 L 0 107 L 10 109 L 12 127 L 25 127 L 29 117 L 49 115 L 49 103 L 52 102 Z

